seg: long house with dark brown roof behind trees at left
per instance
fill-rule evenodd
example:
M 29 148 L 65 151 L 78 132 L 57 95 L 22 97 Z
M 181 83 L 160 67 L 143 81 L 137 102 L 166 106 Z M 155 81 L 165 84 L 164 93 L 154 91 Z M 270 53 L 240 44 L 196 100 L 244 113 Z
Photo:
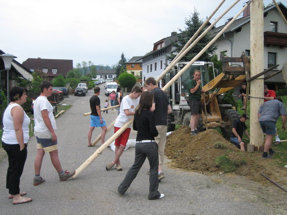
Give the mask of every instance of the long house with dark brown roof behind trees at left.
M 22 65 L 28 68 L 31 72 L 34 70 L 41 70 L 50 81 L 60 74 L 66 77 L 70 70 L 73 70 L 73 60 L 68 59 L 41 59 L 41 58 L 28 58 Z

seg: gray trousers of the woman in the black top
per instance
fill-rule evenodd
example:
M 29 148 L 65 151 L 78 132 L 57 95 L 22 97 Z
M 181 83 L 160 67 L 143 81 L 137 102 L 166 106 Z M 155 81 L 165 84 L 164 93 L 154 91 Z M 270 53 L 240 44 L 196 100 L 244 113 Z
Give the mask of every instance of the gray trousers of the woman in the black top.
M 150 175 L 149 175 L 149 195 L 148 199 L 157 199 L 161 196 L 158 192 L 159 188 L 159 154 L 158 154 L 158 145 L 156 142 L 147 142 L 147 143 L 136 143 L 136 155 L 135 162 L 128 170 L 126 176 L 124 177 L 122 183 L 118 187 L 118 192 L 124 194 L 133 180 L 138 175 L 145 158 L 147 157 L 150 166 Z

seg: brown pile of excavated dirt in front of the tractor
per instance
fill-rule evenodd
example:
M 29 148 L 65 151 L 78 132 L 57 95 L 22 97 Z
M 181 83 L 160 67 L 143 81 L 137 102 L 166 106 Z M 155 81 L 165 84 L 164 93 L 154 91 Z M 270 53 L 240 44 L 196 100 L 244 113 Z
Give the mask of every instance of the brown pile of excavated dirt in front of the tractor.
M 222 148 L 218 147 L 224 146 Z M 216 130 L 209 129 L 197 136 L 190 135 L 190 128 L 181 126 L 167 137 L 165 156 L 172 160 L 171 167 L 197 171 L 205 174 L 219 174 L 224 172 L 216 162 L 216 158 L 226 155 L 238 165 L 233 172 L 248 179 L 269 184 L 264 174 L 281 185 L 287 185 L 286 168 L 274 165 L 274 159 L 262 159 L 261 152 L 243 152 L 228 142 Z

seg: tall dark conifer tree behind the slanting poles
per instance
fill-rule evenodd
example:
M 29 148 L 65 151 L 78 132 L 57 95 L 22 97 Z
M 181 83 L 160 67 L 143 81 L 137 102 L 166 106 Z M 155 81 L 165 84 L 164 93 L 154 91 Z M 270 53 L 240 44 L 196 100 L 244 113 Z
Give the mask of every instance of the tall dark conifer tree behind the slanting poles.
M 172 60 L 176 57 L 176 53 L 179 53 L 182 50 L 187 41 L 195 34 L 195 32 L 200 28 L 204 21 L 199 18 L 199 13 L 197 11 L 194 11 L 194 13 L 191 14 L 188 19 L 185 18 L 184 22 L 186 25 L 185 29 L 179 29 L 181 34 L 178 35 L 177 41 L 171 42 L 175 49 L 170 55 L 167 56 L 167 59 L 169 60 Z M 201 33 L 199 33 L 199 35 L 201 35 L 205 31 L 205 29 L 206 27 L 201 31 Z M 180 61 L 185 62 L 193 59 L 210 40 L 211 38 L 207 33 L 188 53 L 186 53 L 186 55 Z M 216 49 L 216 45 L 211 45 L 198 60 L 209 62 L 210 56 L 214 53 Z

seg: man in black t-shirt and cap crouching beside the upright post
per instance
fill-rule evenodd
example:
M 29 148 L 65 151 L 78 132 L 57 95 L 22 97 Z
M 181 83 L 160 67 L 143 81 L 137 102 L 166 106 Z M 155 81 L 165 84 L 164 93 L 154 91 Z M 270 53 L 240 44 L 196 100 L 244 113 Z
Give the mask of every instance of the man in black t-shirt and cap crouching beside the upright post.
M 248 116 L 246 114 L 243 114 L 237 121 L 235 121 L 232 126 L 232 132 L 230 136 L 230 142 L 236 145 L 242 151 L 245 151 L 244 142 L 242 141 L 243 132 L 246 135 L 246 137 L 250 139 L 245 124 L 247 119 Z

